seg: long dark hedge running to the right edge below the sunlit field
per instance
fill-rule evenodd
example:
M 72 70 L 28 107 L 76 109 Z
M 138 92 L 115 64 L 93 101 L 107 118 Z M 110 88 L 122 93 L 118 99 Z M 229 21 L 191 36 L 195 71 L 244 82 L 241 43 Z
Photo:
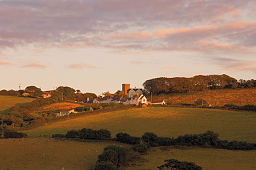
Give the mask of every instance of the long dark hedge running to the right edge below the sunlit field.
M 140 144 L 144 142 L 150 147 L 159 146 L 188 146 L 188 147 L 207 147 L 216 149 L 229 150 L 255 150 L 256 144 L 247 142 L 237 142 L 228 140 L 219 140 L 219 134 L 212 131 L 207 131 L 202 134 L 187 134 L 181 135 L 178 138 L 158 137 L 155 133 L 146 132 L 141 138 L 132 137 L 127 133 L 116 134 L 116 140 L 127 144 Z

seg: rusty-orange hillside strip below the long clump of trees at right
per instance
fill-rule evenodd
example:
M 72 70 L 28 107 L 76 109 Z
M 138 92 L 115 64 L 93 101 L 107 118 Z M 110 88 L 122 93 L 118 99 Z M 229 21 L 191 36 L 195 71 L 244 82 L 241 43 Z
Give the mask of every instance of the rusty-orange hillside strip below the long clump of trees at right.
M 207 104 L 212 106 L 224 106 L 225 104 L 256 105 L 256 88 L 206 90 L 190 94 L 159 95 L 153 98 L 154 101 L 165 100 L 170 104 L 194 104 L 199 99 L 205 100 Z

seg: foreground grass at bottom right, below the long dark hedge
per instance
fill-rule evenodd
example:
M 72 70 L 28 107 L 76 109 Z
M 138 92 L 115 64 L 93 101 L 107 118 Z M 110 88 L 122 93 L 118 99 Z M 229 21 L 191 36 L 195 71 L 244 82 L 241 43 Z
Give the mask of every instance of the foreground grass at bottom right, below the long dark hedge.
M 162 147 L 163 148 L 163 147 Z M 146 155 L 141 155 L 144 162 L 136 162 L 130 169 L 152 169 L 164 164 L 164 160 L 177 159 L 194 162 L 203 167 L 203 170 L 254 170 L 256 169 L 256 151 L 230 151 L 224 149 L 202 149 L 196 147 L 161 147 L 150 149 Z

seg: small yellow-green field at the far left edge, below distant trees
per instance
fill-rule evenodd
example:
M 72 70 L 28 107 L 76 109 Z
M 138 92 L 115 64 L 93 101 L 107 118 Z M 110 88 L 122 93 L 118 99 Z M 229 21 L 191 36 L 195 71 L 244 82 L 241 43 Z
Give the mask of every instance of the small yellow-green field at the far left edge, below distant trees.
M 0 115 L 6 115 L 8 113 L 8 109 L 12 106 L 22 106 L 32 102 L 33 100 L 35 99 L 0 95 Z

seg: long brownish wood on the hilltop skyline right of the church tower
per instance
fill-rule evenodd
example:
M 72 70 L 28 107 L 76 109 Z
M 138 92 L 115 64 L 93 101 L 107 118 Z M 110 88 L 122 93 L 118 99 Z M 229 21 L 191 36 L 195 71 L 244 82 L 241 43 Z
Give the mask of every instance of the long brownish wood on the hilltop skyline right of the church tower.
M 143 84 L 147 94 L 190 93 L 207 89 L 255 88 L 256 79 L 243 80 L 228 75 L 196 75 L 194 77 L 159 77 L 148 79 Z

